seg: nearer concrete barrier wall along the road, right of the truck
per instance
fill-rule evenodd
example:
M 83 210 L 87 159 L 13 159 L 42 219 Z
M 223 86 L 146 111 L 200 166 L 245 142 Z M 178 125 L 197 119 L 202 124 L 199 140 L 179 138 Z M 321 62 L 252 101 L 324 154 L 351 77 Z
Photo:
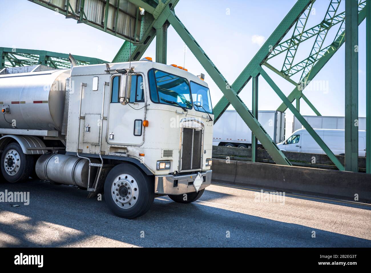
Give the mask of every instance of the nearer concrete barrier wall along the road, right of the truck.
M 371 174 L 213 159 L 212 181 L 371 202 Z

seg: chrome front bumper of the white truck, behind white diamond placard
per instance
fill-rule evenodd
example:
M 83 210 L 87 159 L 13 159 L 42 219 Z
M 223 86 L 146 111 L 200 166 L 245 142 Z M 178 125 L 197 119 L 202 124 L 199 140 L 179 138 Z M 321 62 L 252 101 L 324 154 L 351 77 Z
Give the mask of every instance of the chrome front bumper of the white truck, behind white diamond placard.
M 206 188 L 211 184 L 211 170 L 200 172 L 203 178 L 203 183 L 199 189 Z M 191 175 L 156 175 L 155 176 L 155 194 L 187 194 L 195 192 L 193 181 L 197 173 Z

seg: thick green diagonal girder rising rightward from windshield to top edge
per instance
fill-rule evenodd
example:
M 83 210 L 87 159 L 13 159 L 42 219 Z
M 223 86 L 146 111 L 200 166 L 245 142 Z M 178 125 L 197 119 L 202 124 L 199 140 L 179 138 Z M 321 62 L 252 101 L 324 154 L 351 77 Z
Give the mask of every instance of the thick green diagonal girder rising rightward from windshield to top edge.
M 252 58 L 246 68 L 239 75 L 239 77 L 237 77 L 237 79 L 233 82 L 232 89 L 235 90 L 237 94 L 239 94 L 242 88 L 247 84 L 252 75 L 256 73 L 256 70 L 261 69 L 260 64 L 265 61 L 265 59 L 274 50 L 275 46 L 278 45 L 280 40 L 282 40 L 282 38 L 289 31 L 290 27 L 293 26 L 296 20 L 298 20 L 299 16 L 301 16 L 301 14 L 313 1 L 314 0 L 298 0 L 289 11 L 289 13 L 286 14 L 285 18 L 278 25 L 272 35 L 269 36 L 264 45 L 259 49 L 259 51 Z M 215 121 L 218 120 L 221 114 L 227 109 L 229 104 L 229 101 L 224 95 L 223 98 L 221 98 L 220 101 L 213 108 Z

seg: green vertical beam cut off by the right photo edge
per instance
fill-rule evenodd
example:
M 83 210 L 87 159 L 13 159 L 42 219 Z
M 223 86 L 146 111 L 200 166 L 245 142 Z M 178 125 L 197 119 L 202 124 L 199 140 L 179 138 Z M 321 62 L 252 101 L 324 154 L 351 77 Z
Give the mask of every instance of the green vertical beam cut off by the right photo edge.
M 366 4 L 366 172 L 371 173 L 371 2 Z M 1 50 L 1 49 L 0 49 Z

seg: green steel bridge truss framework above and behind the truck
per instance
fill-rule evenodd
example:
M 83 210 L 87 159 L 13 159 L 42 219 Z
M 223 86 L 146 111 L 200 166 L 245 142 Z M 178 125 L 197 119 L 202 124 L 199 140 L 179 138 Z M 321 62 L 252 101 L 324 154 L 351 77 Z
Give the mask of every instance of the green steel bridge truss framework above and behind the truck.
M 367 18 L 366 149 L 368 150 L 371 147 L 371 82 L 369 77 L 371 69 L 370 1 L 367 4 L 367 0 L 344 0 L 345 10 L 343 9 L 341 11 L 341 0 L 330 0 L 324 19 L 315 26 L 307 26 L 315 0 L 296 1 L 289 13 L 286 14 L 282 22 L 276 27 L 272 35 L 266 40 L 233 84 L 229 84 L 223 77 L 209 56 L 207 56 L 197 43 L 196 39 L 175 15 L 174 7 L 179 0 L 29 1 L 55 10 L 55 12 L 62 13 L 66 18 L 74 18 L 78 20 L 78 23 L 86 23 L 124 39 L 125 41 L 122 47 L 112 62 L 137 61 L 141 58 L 154 37 L 157 36 L 156 61 L 166 64 L 167 28 L 171 24 L 224 94 L 213 109 L 215 116 L 214 122 L 232 104 L 247 126 L 252 130 L 252 161 L 256 160 L 256 139 L 259 139 L 260 143 L 262 143 L 277 164 L 291 165 L 257 120 L 258 78 L 261 75 L 282 100 L 282 104 L 277 110 L 285 111 L 289 108 L 337 168 L 339 170 L 353 172 L 358 172 L 358 127 L 355 126 L 355 120 L 358 119 L 358 52 L 354 48 L 358 46 L 358 25 Z M 141 12 L 143 10 L 145 11 L 144 14 Z M 345 17 L 347 17 L 347 20 L 345 20 Z M 326 37 L 331 28 L 337 29 L 335 38 L 330 44 L 325 45 L 325 41 L 327 42 L 328 40 Z M 292 30 L 291 37 L 283 40 L 290 30 Z M 347 34 L 347 39 L 345 39 L 345 32 L 349 33 Z M 311 50 L 308 52 L 307 58 L 297 62 L 297 58 L 295 57 L 299 46 L 309 39 L 312 39 L 314 42 Z M 318 74 L 343 43 L 345 43 L 345 166 L 339 162 L 334 153 L 332 153 L 321 137 L 316 134 L 315 130 L 312 129 L 300 114 L 300 100 L 303 98 L 318 116 L 321 115 L 308 98 L 306 98 L 303 91 L 305 91 L 306 85 L 312 81 L 315 75 Z M 2 54 L 4 56 L 4 51 Z M 273 58 L 277 55 L 284 56 L 284 61 L 279 66 L 277 64 L 272 65 Z M 6 53 L 6 56 L 15 57 L 12 53 Z M 81 62 L 91 63 L 84 58 L 86 57 L 81 57 L 79 60 Z M 66 58 L 62 59 L 64 61 L 58 63 L 48 62 L 47 64 L 54 66 L 68 65 Z M 91 60 L 91 58 L 87 59 Z M 103 62 L 102 60 L 95 60 Z M 39 59 L 36 61 L 39 61 Z M 10 63 L 13 66 L 19 64 L 14 59 Z M 28 63 L 26 61 L 20 61 L 19 65 L 28 65 Z M 273 79 L 269 77 L 263 67 L 272 70 L 294 85 L 294 89 L 287 97 L 275 84 Z M 239 97 L 239 93 L 250 79 L 252 79 L 253 88 L 251 111 Z M 295 106 L 292 104 L 294 101 L 296 101 Z M 370 156 L 366 158 L 366 167 L 367 172 L 371 173 Z

